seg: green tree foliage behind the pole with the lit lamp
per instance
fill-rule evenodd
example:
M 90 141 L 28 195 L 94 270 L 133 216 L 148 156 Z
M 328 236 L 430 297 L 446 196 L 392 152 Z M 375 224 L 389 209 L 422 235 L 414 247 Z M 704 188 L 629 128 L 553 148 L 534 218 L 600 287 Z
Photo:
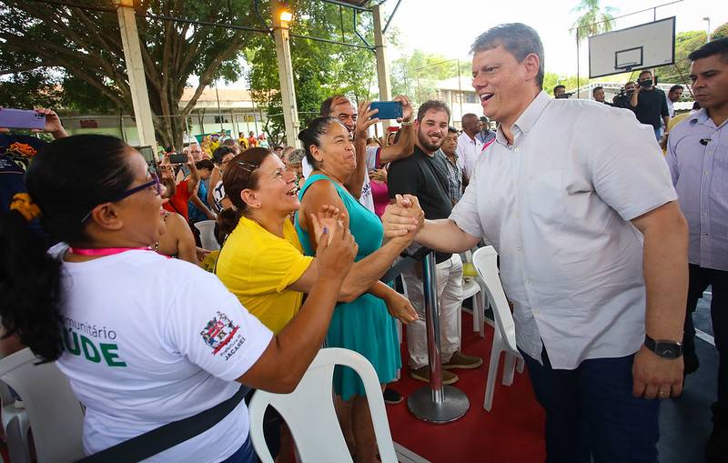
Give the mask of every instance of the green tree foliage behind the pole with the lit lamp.
M 268 8 L 267 5 L 264 5 Z M 294 0 L 290 3 L 294 12 L 292 35 L 338 40 L 348 44 L 363 45 L 354 32 L 353 12 L 323 2 Z M 264 16 L 269 12 L 263 11 Z M 359 34 L 374 44 L 372 18 L 359 14 Z M 343 25 L 343 26 L 342 26 Z M 322 43 L 305 38 L 291 37 L 291 63 L 296 86 L 296 103 L 301 127 L 319 116 L 321 102 L 335 94 L 347 95 L 354 103 L 371 99 L 369 88 L 377 83 L 374 53 L 368 49 L 346 45 Z M 278 88 L 278 62 L 273 37 L 253 37 L 246 52 L 250 65 L 248 81 L 253 99 L 268 112 L 264 130 L 271 143 L 279 144 L 285 136 L 283 110 Z M 287 140 L 292 144 L 293 140 Z

